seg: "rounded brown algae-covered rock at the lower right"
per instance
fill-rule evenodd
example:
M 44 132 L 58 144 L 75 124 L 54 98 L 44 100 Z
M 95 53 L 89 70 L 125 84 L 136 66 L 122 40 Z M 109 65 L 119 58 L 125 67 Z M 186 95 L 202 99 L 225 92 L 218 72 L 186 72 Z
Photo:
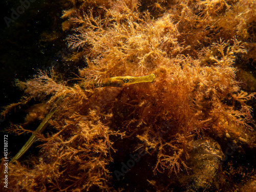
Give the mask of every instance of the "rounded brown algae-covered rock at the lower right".
M 189 174 L 180 181 L 185 191 L 203 191 L 219 172 L 220 161 L 225 156 L 217 141 L 209 137 L 193 141 L 192 146 L 187 161 Z

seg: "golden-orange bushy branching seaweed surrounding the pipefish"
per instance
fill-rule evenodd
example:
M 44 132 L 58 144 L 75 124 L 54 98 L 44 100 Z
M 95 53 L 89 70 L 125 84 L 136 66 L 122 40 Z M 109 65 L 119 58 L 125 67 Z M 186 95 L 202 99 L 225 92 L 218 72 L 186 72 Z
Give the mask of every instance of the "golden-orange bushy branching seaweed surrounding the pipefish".
M 66 60 L 84 67 L 72 83 L 54 69 L 18 82 L 24 96 L 2 115 L 36 104 L 7 131 L 35 134 L 41 144 L 9 164 L 9 189 L 255 190 L 255 166 L 242 180 L 245 168 L 223 154 L 225 143 L 255 152 L 254 93 L 236 78 L 238 67 L 255 67 L 254 0 L 66 4 Z M 110 87 L 115 77 L 150 74 Z M 50 132 L 26 129 L 51 109 Z M 212 172 L 199 178 L 209 164 Z

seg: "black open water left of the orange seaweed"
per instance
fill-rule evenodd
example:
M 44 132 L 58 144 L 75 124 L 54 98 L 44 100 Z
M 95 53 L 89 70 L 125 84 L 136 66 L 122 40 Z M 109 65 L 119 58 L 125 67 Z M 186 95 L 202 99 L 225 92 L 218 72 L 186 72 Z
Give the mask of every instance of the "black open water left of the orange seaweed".
M 13 10 L 22 4 L 19 1 L 1 1 L 1 30 L 0 30 L 0 109 L 11 103 L 16 103 L 23 96 L 23 90 L 15 86 L 16 81 L 31 79 L 39 70 L 60 66 L 63 48 L 66 48 L 65 38 L 68 34 L 61 30 L 62 7 L 59 1 L 34 1 L 25 8 L 24 13 L 14 17 Z M 13 9 L 13 10 L 12 10 Z M 13 19 L 8 24 L 5 17 Z M 47 40 L 48 36 L 52 39 Z M 23 122 L 26 114 L 17 113 L 0 118 L 0 141 L 3 131 L 10 122 Z M 34 125 L 36 129 L 38 125 Z M 33 128 L 32 128 L 33 129 Z M 20 147 L 30 137 L 29 135 L 14 136 L 8 134 L 8 150 L 14 156 Z

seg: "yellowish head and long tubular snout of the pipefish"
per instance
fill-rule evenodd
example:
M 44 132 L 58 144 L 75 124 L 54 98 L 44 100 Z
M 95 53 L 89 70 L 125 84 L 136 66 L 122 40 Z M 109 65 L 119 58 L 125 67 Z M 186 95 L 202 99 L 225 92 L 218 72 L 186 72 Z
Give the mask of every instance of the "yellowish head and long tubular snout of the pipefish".
M 103 78 L 101 82 L 93 80 L 89 83 L 89 85 L 94 87 L 123 87 L 135 83 L 153 82 L 155 78 L 155 74 L 145 76 L 117 76 Z

